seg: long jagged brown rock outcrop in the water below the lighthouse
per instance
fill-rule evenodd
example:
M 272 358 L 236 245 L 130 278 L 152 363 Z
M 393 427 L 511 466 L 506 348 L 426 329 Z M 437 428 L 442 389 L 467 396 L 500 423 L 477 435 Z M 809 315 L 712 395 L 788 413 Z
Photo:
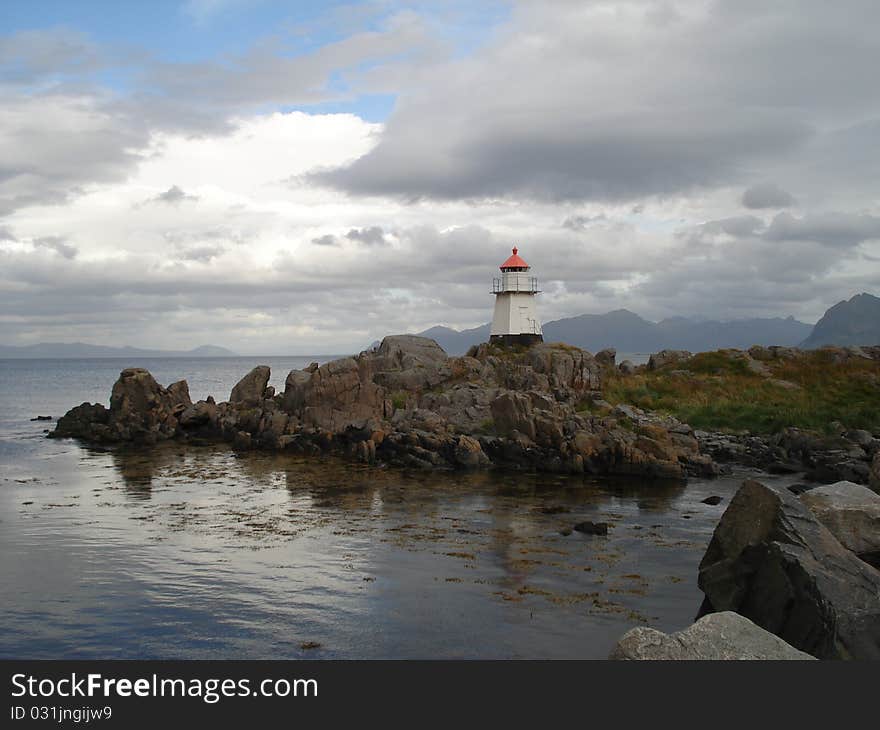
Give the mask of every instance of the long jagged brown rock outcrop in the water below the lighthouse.
M 613 368 L 610 351 L 600 361 L 567 345 L 487 344 L 447 357 L 432 340 L 401 335 L 356 357 L 293 370 L 278 394 L 269 369 L 254 368 L 224 403 L 193 404 L 185 383 L 166 390 L 146 371 L 124 371 L 114 386 L 124 406 L 121 395 L 109 414 L 80 406 L 56 435 L 219 439 L 238 449 L 337 451 L 409 468 L 714 474 L 687 424 L 638 409 L 596 415 L 585 406 L 601 400 L 603 372 Z

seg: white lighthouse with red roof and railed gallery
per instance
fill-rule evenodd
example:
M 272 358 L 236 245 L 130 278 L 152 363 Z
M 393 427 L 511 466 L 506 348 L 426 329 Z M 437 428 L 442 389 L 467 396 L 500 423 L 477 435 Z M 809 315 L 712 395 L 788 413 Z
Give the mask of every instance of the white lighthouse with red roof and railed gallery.
M 495 295 L 495 314 L 489 341 L 503 345 L 533 345 L 543 342 L 541 323 L 535 308 L 538 280 L 529 276 L 531 267 L 519 256 L 513 255 L 501 266 L 501 278 L 492 280 Z

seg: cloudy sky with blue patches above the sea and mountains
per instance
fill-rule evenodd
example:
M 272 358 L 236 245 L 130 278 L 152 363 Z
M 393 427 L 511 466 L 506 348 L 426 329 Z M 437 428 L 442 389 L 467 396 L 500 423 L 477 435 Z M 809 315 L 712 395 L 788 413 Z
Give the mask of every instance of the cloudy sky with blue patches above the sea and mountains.
M 876 0 L 4 0 L 0 342 L 347 352 L 880 293 Z

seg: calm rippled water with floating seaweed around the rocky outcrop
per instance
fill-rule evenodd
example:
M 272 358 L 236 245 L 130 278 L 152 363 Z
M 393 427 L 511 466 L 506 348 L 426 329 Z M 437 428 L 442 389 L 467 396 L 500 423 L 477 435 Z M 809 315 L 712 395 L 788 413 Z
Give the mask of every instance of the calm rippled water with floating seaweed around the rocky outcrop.
M 94 450 L 29 420 L 106 403 L 132 364 L 219 400 L 259 362 L 283 387 L 311 359 L 0 361 L 0 657 L 599 658 L 637 623 L 690 623 L 736 478 Z M 560 533 L 583 519 L 610 535 Z

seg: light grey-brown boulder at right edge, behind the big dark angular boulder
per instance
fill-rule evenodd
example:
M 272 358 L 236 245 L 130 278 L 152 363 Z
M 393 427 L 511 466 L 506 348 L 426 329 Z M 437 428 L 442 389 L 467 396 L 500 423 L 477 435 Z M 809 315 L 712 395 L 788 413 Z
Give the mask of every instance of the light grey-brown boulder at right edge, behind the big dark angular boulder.
M 841 545 L 880 568 L 880 495 L 861 484 L 837 482 L 805 492 L 801 502 Z

